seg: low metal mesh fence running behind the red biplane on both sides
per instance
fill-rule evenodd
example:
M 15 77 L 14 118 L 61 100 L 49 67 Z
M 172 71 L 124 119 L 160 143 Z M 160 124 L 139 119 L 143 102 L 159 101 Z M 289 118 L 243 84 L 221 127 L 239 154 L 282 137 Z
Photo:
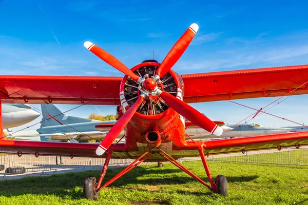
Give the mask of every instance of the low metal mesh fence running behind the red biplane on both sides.
M 200 157 L 184 158 L 183 160 L 200 160 Z M 229 161 L 240 163 L 263 163 L 276 165 L 308 166 L 308 148 L 282 148 L 281 150 L 260 150 L 243 153 L 211 155 L 209 161 Z M 110 159 L 109 165 L 128 165 L 133 159 Z M 94 169 L 103 166 L 104 158 L 60 157 L 16 154 L 0 155 L 0 174 L 22 174 L 31 172 L 57 171 L 61 169 Z

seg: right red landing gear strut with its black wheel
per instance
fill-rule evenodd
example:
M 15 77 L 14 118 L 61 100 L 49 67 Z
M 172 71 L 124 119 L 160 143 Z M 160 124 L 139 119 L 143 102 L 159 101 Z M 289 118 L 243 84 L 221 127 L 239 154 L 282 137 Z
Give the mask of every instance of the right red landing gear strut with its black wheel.
M 220 174 L 220 175 L 218 175 L 216 177 L 215 183 L 214 183 L 213 182 L 213 178 L 211 177 L 211 174 L 210 174 L 210 171 L 209 171 L 209 168 L 208 168 L 207 161 L 206 161 L 205 156 L 204 156 L 203 149 L 201 147 L 199 147 L 199 153 L 200 153 L 201 160 L 202 160 L 202 163 L 203 163 L 206 175 L 208 177 L 211 189 L 215 193 L 220 194 L 220 195 L 226 197 L 227 196 L 227 191 L 228 191 L 226 177 L 224 175 Z

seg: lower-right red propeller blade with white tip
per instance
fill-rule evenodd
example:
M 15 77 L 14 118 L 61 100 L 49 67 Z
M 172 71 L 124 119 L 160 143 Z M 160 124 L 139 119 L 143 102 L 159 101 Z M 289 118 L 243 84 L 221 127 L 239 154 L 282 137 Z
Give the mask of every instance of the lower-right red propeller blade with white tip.
M 177 111 L 180 115 L 189 119 L 193 124 L 203 128 L 204 130 L 214 134 L 216 136 L 222 135 L 222 128 L 219 127 L 215 122 L 208 119 L 205 115 L 200 113 L 195 108 L 192 108 L 188 104 L 184 103 L 182 100 L 176 98 L 175 96 L 162 92 L 160 97 L 170 106 L 172 109 Z

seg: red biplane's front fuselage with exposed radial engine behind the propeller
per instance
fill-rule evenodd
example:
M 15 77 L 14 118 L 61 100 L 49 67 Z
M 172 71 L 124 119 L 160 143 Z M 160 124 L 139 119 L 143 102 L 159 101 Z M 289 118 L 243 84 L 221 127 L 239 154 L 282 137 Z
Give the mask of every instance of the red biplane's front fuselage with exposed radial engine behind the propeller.
M 131 70 L 140 76 L 146 74 L 153 76 L 159 67 L 159 63 L 142 63 Z M 163 78 L 161 78 L 162 90 L 183 100 L 183 81 L 181 76 L 170 70 Z M 138 98 L 138 85 L 134 84 L 127 76 L 122 80 L 120 87 L 121 109 L 120 112 L 125 113 L 134 99 Z M 118 113 L 121 117 L 121 113 Z M 131 153 L 131 157 L 140 156 L 148 149 L 161 149 L 171 153 L 175 158 L 191 156 L 196 154 L 199 142 L 195 144 L 185 140 L 184 118 L 175 110 L 169 108 L 158 96 L 149 96 L 145 98 L 139 110 L 133 115 L 131 120 L 125 127 L 125 149 L 122 150 L 126 154 Z M 179 151 L 183 148 L 185 152 Z M 191 149 L 191 151 L 189 150 Z M 175 154 L 172 154 L 175 152 Z M 177 154 L 179 154 L 177 156 Z M 163 160 L 160 155 L 153 155 L 149 160 Z

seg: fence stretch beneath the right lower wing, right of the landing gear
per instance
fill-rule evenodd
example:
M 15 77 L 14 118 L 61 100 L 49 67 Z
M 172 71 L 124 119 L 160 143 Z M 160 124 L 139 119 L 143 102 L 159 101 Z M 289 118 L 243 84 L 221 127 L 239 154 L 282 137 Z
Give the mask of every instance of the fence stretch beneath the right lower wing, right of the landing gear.
M 209 161 L 229 161 L 241 163 L 265 163 L 276 165 L 308 166 L 308 149 L 282 148 L 278 150 L 260 150 L 242 153 L 212 155 Z

